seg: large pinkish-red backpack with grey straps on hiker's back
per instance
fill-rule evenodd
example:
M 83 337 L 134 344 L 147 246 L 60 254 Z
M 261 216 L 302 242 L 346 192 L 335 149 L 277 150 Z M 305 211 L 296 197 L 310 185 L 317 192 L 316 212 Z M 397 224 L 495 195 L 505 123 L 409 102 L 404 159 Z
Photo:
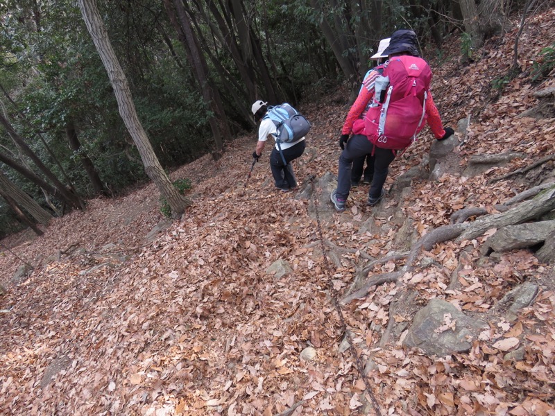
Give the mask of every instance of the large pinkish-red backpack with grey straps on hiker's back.
M 364 119 L 366 135 L 375 146 L 401 150 L 416 141 L 424 128 L 432 70 L 422 58 L 396 56 L 375 80 L 375 96 Z

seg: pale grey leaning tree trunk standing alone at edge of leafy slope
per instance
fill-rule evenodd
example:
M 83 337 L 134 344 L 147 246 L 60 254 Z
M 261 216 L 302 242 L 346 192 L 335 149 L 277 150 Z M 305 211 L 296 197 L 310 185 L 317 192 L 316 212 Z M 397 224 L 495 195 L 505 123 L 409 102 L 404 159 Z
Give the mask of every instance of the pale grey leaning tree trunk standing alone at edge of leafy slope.
M 104 64 L 110 83 L 114 89 L 117 99 L 119 114 L 126 125 L 126 128 L 139 150 L 146 175 L 153 180 L 158 190 L 164 198 L 166 198 L 171 208 L 173 218 L 179 218 L 185 212 L 185 208 L 191 205 L 188 198 L 182 196 L 178 189 L 173 186 L 168 175 L 160 165 L 160 161 L 154 153 L 154 149 L 146 132 L 139 121 L 137 110 L 131 96 L 131 91 L 127 83 L 127 78 L 123 69 L 117 60 L 117 56 L 112 49 L 112 44 L 108 38 L 103 21 L 99 15 L 95 0 L 78 0 L 83 20 L 87 25 L 96 51 L 99 52 L 101 60 Z

